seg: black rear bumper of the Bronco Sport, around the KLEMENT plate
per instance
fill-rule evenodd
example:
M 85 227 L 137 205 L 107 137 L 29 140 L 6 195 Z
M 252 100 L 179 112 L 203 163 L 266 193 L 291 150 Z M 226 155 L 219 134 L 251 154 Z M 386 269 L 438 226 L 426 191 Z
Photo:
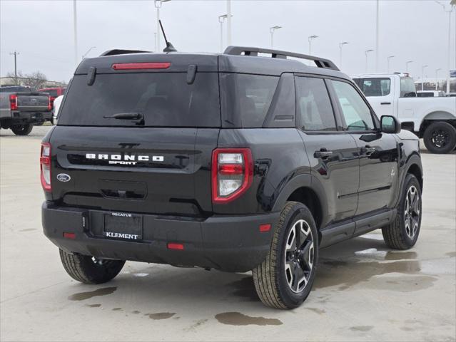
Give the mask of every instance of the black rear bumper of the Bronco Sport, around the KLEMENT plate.
M 111 259 L 146 261 L 175 266 L 201 266 L 223 271 L 248 271 L 265 259 L 273 229 L 260 232 L 260 224 L 275 227 L 280 213 L 245 216 L 214 216 L 207 219 L 143 215 L 143 240 L 106 239 L 104 214 L 108 211 L 42 206 L 44 234 L 57 247 Z M 73 232 L 75 239 L 64 238 Z M 183 250 L 168 249 L 183 244 Z

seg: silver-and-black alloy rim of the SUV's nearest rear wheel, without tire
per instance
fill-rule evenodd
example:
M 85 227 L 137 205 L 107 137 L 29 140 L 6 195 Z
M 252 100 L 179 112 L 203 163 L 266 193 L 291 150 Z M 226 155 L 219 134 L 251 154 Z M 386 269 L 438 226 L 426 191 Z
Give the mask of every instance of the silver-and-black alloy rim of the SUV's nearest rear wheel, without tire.
M 308 222 L 299 219 L 293 224 L 285 245 L 285 279 L 291 291 L 299 293 L 308 284 L 313 269 L 313 234 Z

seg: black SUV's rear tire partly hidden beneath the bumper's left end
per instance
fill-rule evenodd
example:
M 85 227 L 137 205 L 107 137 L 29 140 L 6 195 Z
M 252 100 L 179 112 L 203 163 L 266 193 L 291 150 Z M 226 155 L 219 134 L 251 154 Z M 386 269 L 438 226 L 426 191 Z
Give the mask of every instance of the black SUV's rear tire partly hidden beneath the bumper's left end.
M 66 273 L 74 280 L 84 284 L 103 284 L 121 271 L 125 261 L 96 259 L 80 254 L 69 254 L 61 249 L 60 259 Z

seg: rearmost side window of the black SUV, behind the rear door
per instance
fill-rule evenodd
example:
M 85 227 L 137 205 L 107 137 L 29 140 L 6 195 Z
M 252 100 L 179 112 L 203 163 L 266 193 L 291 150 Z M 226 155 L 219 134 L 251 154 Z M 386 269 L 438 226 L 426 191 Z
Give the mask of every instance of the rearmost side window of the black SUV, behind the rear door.
M 278 76 L 221 73 L 223 125 L 263 127 L 278 81 Z

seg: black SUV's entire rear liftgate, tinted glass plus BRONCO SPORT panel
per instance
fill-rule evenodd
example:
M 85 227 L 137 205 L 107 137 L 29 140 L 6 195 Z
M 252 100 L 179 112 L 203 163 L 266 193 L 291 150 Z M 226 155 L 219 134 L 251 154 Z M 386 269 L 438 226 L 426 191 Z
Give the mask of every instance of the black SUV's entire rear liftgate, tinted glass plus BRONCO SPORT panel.
M 53 199 L 124 212 L 211 212 L 218 75 L 186 80 L 181 72 L 102 73 L 90 85 L 87 75 L 74 76 L 51 136 Z

